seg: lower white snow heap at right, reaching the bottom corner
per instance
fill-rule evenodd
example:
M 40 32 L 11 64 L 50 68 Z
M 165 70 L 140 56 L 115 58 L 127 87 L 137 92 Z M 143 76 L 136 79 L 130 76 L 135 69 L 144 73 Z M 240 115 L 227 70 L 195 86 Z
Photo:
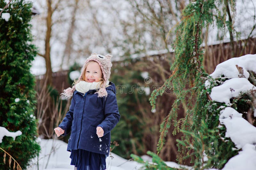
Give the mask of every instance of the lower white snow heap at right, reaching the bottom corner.
M 232 107 L 221 110 L 219 120 L 227 129 L 225 137 L 230 137 L 238 149 L 242 148 L 238 155 L 228 160 L 222 170 L 253 170 L 256 167 L 256 128 Z

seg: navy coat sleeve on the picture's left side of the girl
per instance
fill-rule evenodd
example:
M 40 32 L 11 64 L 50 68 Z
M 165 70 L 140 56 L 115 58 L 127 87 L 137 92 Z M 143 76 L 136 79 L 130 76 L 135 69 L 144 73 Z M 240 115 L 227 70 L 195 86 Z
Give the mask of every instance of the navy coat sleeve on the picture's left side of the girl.
M 75 105 L 76 105 L 76 100 L 75 100 L 74 94 L 73 94 L 73 97 L 72 97 L 72 100 L 71 100 L 71 105 L 69 107 L 69 111 L 67 112 L 67 114 L 64 117 L 63 121 L 59 125 L 59 127 L 61 129 L 65 130 L 65 132 L 61 136 L 68 135 L 70 130 L 71 130 L 71 125 L 72 125 L 72 121 L 73 121 L 73 113 L 74 113 Z

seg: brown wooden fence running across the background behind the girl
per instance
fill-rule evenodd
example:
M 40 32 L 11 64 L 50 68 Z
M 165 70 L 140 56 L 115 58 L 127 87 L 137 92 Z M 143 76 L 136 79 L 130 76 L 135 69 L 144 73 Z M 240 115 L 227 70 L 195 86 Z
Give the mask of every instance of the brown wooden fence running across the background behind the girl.
M 230 42 L 224 42 L 219 44 L 214 44 L 210 46 L 204 46 L 204 69 L 211 74 L 215 67 L 230 58 L 232 58 L 231 48 L 230 48 Z M 234 42 L 234 49 L 233 55 L 234 57 L 239 57 L 245 54 L 256 54 L 256 38 L 250 38 L 246 40 L 239 40 Z M 156 57 L 156 56 L 163 56 L 163 57 L 170 57 L 173 56 L 173 52 L 171 52 L 170 55 L 166 54 L 159 54 L 159 55 L 151 55 L 151 56 L 145 56 L 145 57 Z M 143 57 L 142 57 L 143 58 Z M 152 61 L 152 60 L 148 60 Z M 121 64 L 122 61 L 113 62 L 113 65 L 115 64 Z M 124 63 L 122 63 L 124 64 Z M 152 64 L 150 62 L 149 64 Z M 165 66 L 166 67 L 166 66 Z M 167 67 L 170 67 L 167 65 Z M 169 68 L 165 68 L 165 70 L 169 70 Z M 68 70 L 58 71 L 52 73 L 53 77 L 53 86 L 58 90 L 58 92 L 61 92 L 63 88 L 68 88 L 70 84 L 68 83 Z M 44 80 L 45 75 L 39 75 L 36 76 L 36 80 Z

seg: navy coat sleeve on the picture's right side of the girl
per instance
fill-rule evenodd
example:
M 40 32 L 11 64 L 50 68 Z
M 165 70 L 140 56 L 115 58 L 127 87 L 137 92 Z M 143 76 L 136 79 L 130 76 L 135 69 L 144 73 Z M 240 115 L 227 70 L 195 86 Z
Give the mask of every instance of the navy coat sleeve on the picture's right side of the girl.
M 98 125 L 104 130 L 103 136 L 109 133 L 116 126 L 117 122 L 119 122 L 120 119 L 120 114 L 116 101 L 116 94 L 112 91 L 110 94 L 108 94 L 108 97 L 105 100 L 104 116 L 105 119 Z

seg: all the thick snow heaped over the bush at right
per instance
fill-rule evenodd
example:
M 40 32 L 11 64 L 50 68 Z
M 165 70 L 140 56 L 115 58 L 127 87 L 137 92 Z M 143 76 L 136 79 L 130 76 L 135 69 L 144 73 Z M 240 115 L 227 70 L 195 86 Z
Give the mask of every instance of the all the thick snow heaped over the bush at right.
M 243 75 L 236 65 L 242 67 Z M 256 73 L 256 55 L 244 55 L 231 58 L 217 65 L 215 71 L 210 75 L 213 78 L 224 75 L 231 78 L 222 85 L 212 88 L 210 97 L 217 102 L 225 102 L 228 106 L 232 97 L 237 97 L 241 92 L 256 90 L 247 79 L 249 72 Z M 238 78 L 245 77 L 245 78 Z M 209 86 L 209 81 L 205 86 Z M 255 108 L 254 108 L 255 109 Z M 254 114 L 255 115 L 255 114 Z M 229 159 L 222 170 L 255 170 L 256 169 L 256 127 L 246 121 L 241 113 L 232 107 L 225 107 L 220 111 L 220 124 L 225 125 L 225 137 L 230 137 L 238 149 L 242 149 L 238 155 Z M 213 169 L 212 169 L 213 170 Z

